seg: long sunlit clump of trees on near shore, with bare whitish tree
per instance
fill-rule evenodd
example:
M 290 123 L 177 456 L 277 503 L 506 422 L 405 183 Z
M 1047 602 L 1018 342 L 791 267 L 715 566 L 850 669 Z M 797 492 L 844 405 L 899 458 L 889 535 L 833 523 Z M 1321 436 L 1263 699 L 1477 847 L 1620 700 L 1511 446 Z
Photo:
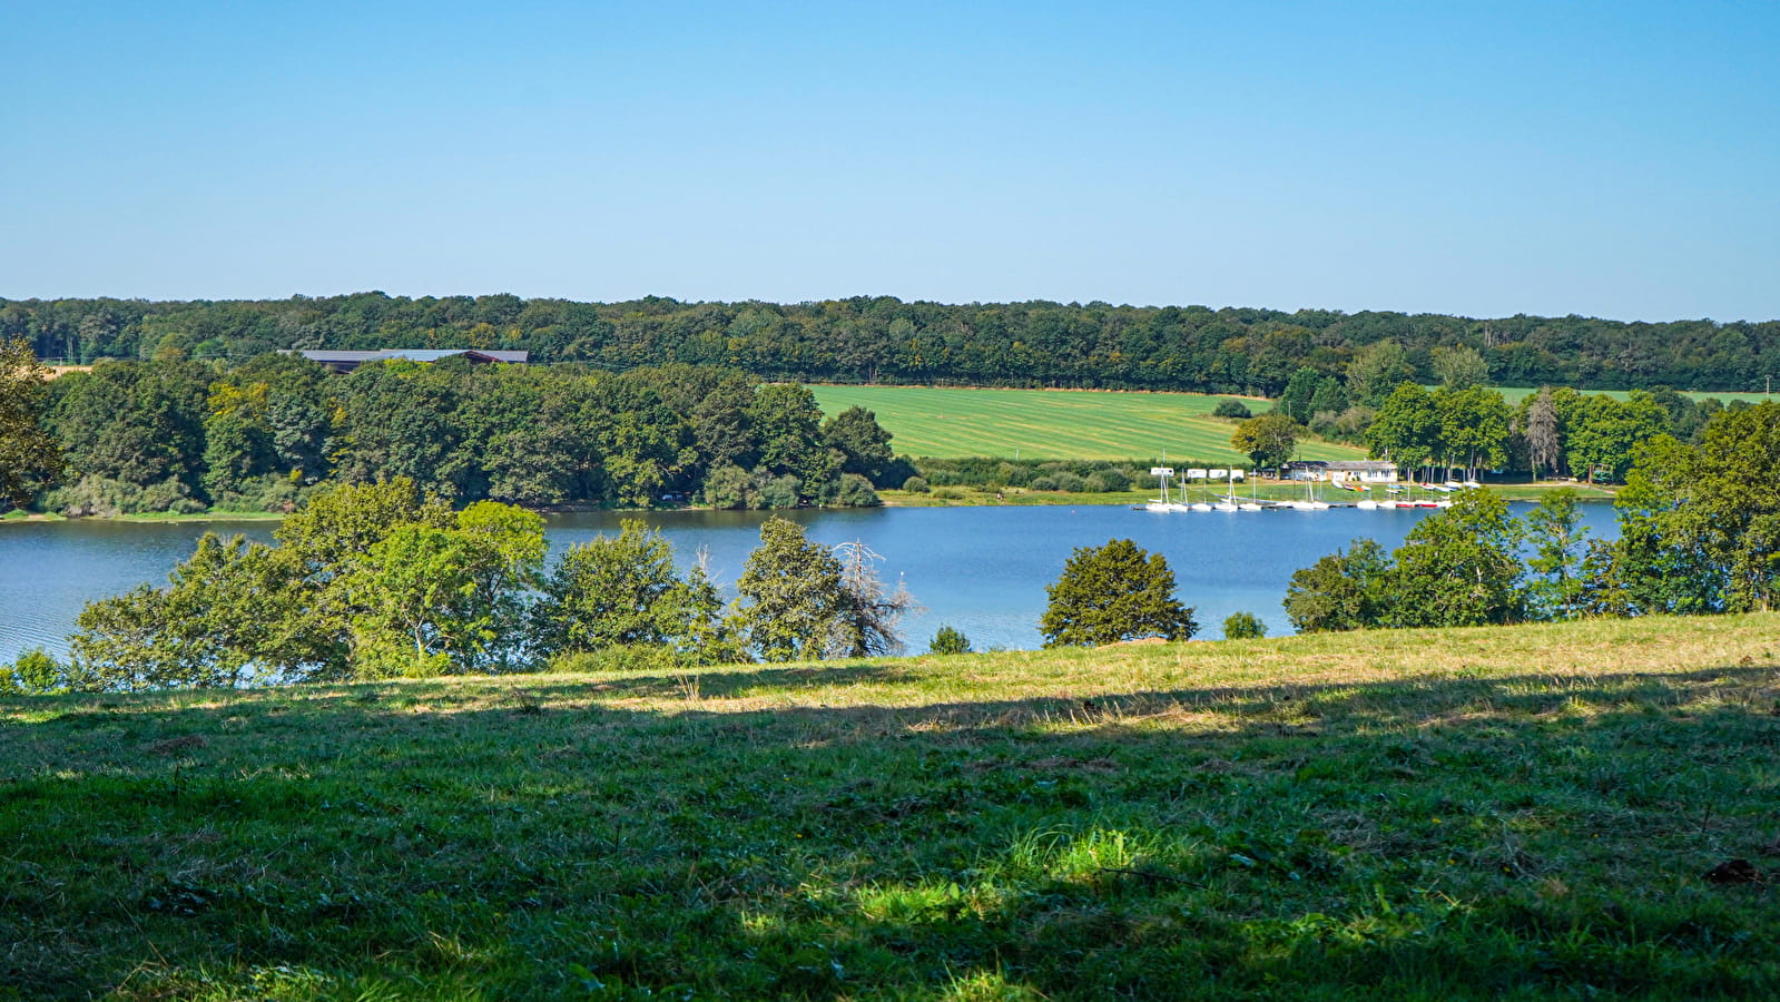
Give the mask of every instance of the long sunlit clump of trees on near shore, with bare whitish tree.
M 166 587 L 89 603 L 61 664 L 36 651 L 0 691 L 281 685 L 507 671 L 685 667 L 901 650 L 911 598 L 863 545 L 769 518 L 723 603 L 643 521 L 546 568 L 543 518 L 454 509 L 406 479 L 335 484 L 276 545 L 205 534 Z

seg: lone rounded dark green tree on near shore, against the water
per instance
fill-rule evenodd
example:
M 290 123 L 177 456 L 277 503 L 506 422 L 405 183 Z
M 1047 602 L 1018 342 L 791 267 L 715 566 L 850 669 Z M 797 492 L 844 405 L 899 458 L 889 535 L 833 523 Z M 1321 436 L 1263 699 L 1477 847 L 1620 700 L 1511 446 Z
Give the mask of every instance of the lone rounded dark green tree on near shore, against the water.
M 1130 539 L 1079 546 L 1045 587 L 1040 632 L 1047 648 L 1111 644 L 1139 637 L 1185 641 L 1193 609 L 1175 598 L 1175 571 Z

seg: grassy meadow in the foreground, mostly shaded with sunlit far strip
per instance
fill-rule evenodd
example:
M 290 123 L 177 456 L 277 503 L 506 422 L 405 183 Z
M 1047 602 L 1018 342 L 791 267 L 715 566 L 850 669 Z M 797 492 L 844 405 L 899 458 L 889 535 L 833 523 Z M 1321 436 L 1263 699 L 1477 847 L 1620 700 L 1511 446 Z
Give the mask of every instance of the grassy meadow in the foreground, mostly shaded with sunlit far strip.
M 0 703 L 16 998 L 1760 998 L 1780 616 Z

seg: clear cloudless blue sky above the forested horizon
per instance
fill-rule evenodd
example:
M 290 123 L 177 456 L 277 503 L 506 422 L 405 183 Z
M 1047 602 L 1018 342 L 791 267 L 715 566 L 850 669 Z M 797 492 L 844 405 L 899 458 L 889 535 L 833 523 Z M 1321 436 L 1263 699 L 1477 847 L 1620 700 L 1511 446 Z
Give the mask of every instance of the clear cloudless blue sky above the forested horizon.
M 1780 4 L 0 0 L 0 295 L 1780 317 Z

